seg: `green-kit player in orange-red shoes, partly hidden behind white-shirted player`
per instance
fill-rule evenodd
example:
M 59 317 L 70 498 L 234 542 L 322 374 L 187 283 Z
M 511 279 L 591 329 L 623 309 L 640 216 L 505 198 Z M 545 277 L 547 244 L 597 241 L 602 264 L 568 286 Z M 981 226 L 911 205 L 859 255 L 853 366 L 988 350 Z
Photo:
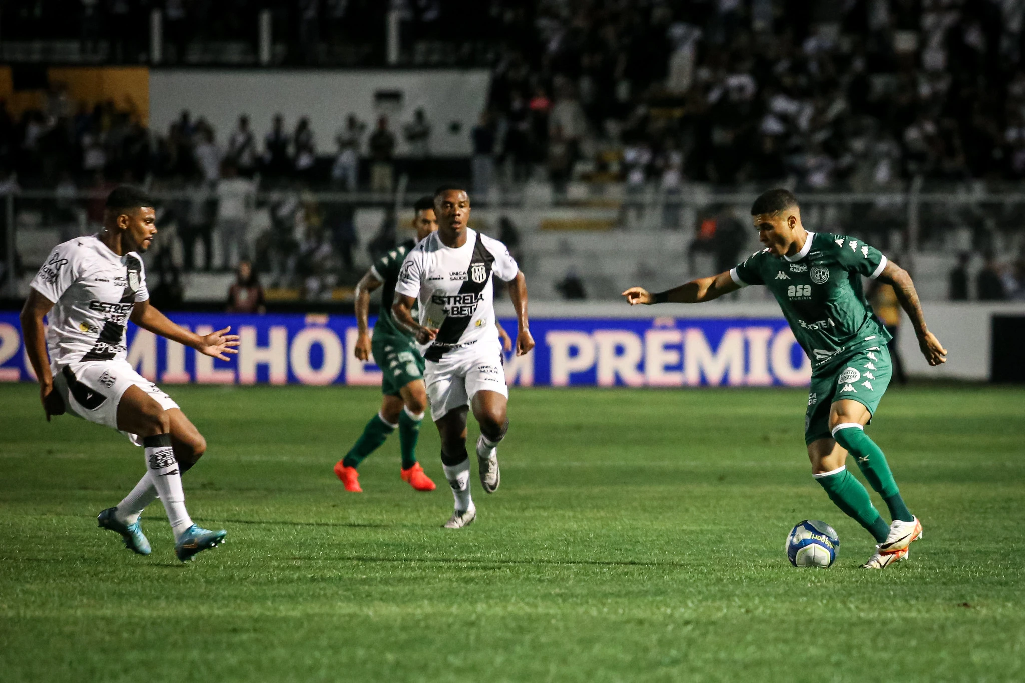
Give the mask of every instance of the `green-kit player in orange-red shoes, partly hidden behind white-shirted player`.
M 383 374 L 381 379 L 381 410 L 370 419 L 345 457 L 334 466 L 334 473 L 345 485 L 345 490 L 362 493 L 360 463 L 376 451 L 388 434 L 399 429 L 399 447 L 402 452 L 402 479 L 416 490 L 434 490 L 435 482 L 423 472 L 416 461 L 416 441 L 420 436 L 420 423 L 427 404 L 427 391 L 423 385 L 423 356 L 412 335 L 395 324 L 392 318 L 392 301 L 395 298 L 395 284 L 399 269 L 409 250 L 416 243 L 438 229 L 435 218 L 435 200 L 422 197 L 414 205 L 416 215 L 413 229 L 416 240 L 408 240 L 370 266 L 356 287 L 356 319 L 360 336 L 356 342 L 356 357 L 367 361 L 373 355 Z M 374 324 L 371 341 L 368 327 L 370 293 L 383 286 L 381 307 Z M 499 328 L 502 341 L 508 350 L 511 342 L 504 330 Z

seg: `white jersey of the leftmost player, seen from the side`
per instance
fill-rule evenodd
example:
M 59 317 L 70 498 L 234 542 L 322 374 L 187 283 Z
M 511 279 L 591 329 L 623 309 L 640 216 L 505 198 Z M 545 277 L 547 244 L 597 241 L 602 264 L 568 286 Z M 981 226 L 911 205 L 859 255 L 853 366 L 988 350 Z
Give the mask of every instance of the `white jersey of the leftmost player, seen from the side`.
M 150 298 L 139 255 L 118 256 L 94 234 L 54 247 L 30 287 L 53 302 L 46 347 L 55 366 L 123 360 L 128 316 Z

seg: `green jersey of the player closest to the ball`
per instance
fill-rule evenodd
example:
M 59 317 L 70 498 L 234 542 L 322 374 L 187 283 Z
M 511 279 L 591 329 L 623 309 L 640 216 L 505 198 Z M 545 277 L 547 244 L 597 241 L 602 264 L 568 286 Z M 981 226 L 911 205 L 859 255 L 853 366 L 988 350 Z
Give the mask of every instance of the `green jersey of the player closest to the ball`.
M 783 309 L 793 336 L 818 371 L 890 341 L 862 291 L 862 276 L 887 267 L 878 250 L 844 234 L 809 232 L 805 247 L 779 258 L 765 249 L 733 268 L 737 285 L 765 285 Z

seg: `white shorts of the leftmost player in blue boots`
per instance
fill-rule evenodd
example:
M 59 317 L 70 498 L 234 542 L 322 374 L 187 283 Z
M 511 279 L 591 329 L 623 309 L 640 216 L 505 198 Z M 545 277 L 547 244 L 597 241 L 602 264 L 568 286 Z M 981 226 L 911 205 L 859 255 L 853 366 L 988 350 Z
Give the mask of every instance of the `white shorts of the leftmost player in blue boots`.
M 53 366 L 51 370 L 53 389 L 64 399 L 68 412 L 97 425 L 118 428 L 118 403 L 130 386 L 137 386 L 153 396 L 165 411 L 178 407 L 160 387 L 124 360 L 85 360 Z M 121 433 L 135 445 L 142 444 L 135 434 Z

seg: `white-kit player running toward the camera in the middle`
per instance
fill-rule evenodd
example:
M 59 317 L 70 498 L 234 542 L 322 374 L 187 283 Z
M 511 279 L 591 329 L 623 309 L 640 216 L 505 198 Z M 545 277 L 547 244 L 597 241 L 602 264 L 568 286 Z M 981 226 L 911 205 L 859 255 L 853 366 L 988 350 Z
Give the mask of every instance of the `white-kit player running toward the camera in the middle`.
M 505 437 L 508 389 L 495 327 L 492 275 L 509 283 L 516 308 L 517 355 L 534 348 L 527 324 L 527 284 L 505 245 L 467 226 L 466 190 L 443 186 L 435 193 L 438 230 L 403 261 L 392 312 L 423 347 L 430 414 L 442 440 L 442 465 L 455 496 L 445 528 L 467 526 L 477 517 L 469 495 L 466 414 L 481 426 L 477 458 L 481 485 L 493 494 L 501 481 L 497 444 Z M 420 319 L 413 304 L 419 300 Z

